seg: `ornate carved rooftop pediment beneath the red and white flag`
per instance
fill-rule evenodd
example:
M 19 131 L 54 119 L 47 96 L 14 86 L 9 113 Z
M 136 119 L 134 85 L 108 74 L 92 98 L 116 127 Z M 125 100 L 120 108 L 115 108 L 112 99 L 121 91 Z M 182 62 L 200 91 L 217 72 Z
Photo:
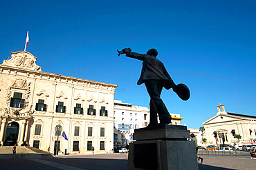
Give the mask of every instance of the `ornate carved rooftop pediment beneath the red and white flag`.
M 4 60 L 3 65 L 10 65 L 12 67 L 21 67 L 28 70 L 36 70 L 41 72 L 40 66 L 38 66 L 35 61 L 37 57 L 33 56 L 29 52 L 19 51 L 19 52 L 11 52 L 12 58 L 9 60 Z

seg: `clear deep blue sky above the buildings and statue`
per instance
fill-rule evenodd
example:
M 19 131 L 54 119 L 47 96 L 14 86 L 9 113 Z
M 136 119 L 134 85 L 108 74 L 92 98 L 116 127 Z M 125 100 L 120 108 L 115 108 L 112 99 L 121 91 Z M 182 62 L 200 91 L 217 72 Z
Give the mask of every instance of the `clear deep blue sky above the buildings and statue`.
M 199 128 L 226 111 L 256 116 L 256 1 L 2 1 L 0 62 L 10 52 L 37 56 L 43 72 L 118 85 L 115 98 L 149 107 L 136 85 L 141 61 L 117 56 L 154 47 L 188 101 L 163 90 L 171 113 Z

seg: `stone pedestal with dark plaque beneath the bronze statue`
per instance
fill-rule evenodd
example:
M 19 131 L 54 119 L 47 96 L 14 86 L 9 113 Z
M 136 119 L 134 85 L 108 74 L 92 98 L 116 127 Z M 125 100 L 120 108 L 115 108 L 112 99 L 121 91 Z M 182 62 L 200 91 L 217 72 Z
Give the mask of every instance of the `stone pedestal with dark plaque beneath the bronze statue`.
M 136 129 L 129 146 L 128 170 L 198 170 L 196 145 L 185 126 Z

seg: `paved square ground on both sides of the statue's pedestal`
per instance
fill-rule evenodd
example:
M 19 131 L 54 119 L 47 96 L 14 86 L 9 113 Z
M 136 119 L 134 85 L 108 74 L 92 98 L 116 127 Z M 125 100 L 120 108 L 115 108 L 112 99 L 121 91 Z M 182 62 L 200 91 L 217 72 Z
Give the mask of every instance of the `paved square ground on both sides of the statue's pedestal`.
M 122 170 L 127 169 L 128 153 L 104 153 L 95 155 L 71 154 L 59 155 L 48 158 L 0 158 L 0 169 L 64 169 L 64 170 Z M 201 155 L 203 164 L 199 170 L 252 170 L 256 169 L 256 160 L 250 155 L 240 156 L 214 156 Z

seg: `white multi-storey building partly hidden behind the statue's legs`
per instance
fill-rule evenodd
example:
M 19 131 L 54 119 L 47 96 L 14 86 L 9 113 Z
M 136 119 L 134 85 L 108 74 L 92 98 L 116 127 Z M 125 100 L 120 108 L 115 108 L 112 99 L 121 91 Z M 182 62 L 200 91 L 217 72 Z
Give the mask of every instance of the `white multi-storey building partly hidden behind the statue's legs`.
M 180 114 L 170 114 L 172 116 L 172 125 L 181 125 Z M 114 103 L 114 148 L 125 147 L 134 141 L 134 129 L 147 127 L 149 125 L 149 108 L 122 103 L 121 100 L 115 100 Z M 159 122 L 159 120 L 158 120 Z M 117 134 L 118 133 L 118 134 Z M 118 140 L 119 139 L 119 140 Z

